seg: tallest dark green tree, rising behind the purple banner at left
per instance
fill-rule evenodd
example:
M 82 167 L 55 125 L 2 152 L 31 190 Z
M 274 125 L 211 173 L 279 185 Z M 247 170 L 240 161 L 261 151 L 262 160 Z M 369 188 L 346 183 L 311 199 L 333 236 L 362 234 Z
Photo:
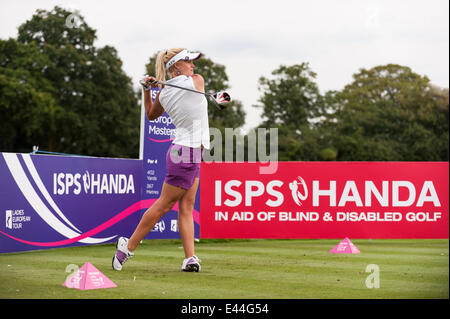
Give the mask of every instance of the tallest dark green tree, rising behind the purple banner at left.
M 33 56 L 46 59 L 39 74 L 30 71 L 26 64 L 19 66 L 24 72 L 30 72 L 31 78 L 38 79 L 36 82 L 44 79 L 48 84 L 42 87 L 37 83 L 34 89 L 49 94 L 52 103 L 41 104 L 47 104 L 53 111 L 35 114 L 41 117 L 35 123 L 49 121 L 48 114 L 54 112 L 47 127 L 33 126 L 32 144 L 26 146 L 28 150 L 39 145 L 41 149 L 63 153 L 137 157 L 140 109 L 131 79 L 122 70 L 122 62 L 113 47 L 94 46 L 96 32 L 81 15 L 77 13 L 78 23 L 74 27 L 66 23 L 71 14 L 60 7 L 52 11 L 37 10 L 19 27 L 19 44 L 32 47 Z M 5 68 L 14 72 L 18 66 L 11 61 L 15 59 L 18 57 L 6 58 Z M 7 92 L 13 89 L 13 84 L 8 84 Z M 20 103 L 20 107 L 25 114 L 32 106 Z M 20 134 L 14 132 L 15 136 Z M 20 147 L 23 149 L 25 145 Z

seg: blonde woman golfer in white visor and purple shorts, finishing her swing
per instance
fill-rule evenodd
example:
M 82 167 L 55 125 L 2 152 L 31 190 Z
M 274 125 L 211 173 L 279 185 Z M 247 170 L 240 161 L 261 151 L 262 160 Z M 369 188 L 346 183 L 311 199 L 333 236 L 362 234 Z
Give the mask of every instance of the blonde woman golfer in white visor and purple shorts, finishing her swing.
M 185 49 L 159 52 L 156 58 L 156 79 L 146 77 L 152 87 L 154 80 L 165 81 L 166 73 L 177 86 L 205 91 L 201 75 L 194 74 L 193 61 L 200 53 Z M 178 202 L 178 227 L 184 247 L 183 271 L 200 271 L 200 260 L 194 252 L 193 210 L 199 184 L 200 162 L 204 148 L 209 149 L 208 103 L 206 97 L 179 88 L 163 87 L 152 102 L 150 91 L 144 90 L 144 104 L 147 118 L 154 120 L 167 112 L 176 127 L 173 144 L 166 155 L 167 175 L 161 196 L 145 212 L 131 238 L 120 237 L 112 266 L 121 270 L 127 259 L 142 239 L 153 229 L 161 217 Z

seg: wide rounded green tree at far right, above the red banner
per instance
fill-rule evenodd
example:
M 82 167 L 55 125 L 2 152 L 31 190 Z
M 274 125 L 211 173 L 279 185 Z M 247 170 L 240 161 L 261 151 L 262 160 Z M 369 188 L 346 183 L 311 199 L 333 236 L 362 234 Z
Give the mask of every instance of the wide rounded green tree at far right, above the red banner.
M 329 117 L 338 160 L 449 159 L 448 115 L 426 76 L 388 64 L 361 69 L 353 78 Z

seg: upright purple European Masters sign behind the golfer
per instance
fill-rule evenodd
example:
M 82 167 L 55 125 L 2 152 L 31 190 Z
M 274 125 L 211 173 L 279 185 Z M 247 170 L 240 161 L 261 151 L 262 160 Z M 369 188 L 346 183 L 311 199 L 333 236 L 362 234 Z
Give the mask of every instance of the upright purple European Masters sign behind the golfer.
M 158 90 L 152 90 L 152 100 L 155 99 Z M 143 99 L 142 99 L 143 101 Z M 143 102 L 142 102 L 143 103 Z M 145 114 L 145 107 L 141 107 L 141 154 L 142 159 L 142 199 L 156 200 L 161 194 L 161 189 L 166 176 L 166 153 L 175 138 L 175 126 L 167 113 L 156 120 L 149 121 Z M 200 187 L 194 205 L 194 235 L 200 235 Z M 146 208 L 148 208 L 148 205 Z M 144 213 L 145 211 L 143 211 Z M 178 232 L 178 204 L 173 210 L 163 216 L 155 227 L 147 235 L 150 238 L 175 239 L 180 238 Z

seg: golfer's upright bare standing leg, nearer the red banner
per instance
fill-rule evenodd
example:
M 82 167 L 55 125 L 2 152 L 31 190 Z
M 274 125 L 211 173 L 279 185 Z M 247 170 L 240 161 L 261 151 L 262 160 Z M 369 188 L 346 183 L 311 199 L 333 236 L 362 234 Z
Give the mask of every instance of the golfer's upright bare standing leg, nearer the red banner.
M 178 229 L 183 243 L 185 258 L 194 256 L 194 203 L 199 179 L 196 178 L 192 187 L 181 197 L 178 203 Z

